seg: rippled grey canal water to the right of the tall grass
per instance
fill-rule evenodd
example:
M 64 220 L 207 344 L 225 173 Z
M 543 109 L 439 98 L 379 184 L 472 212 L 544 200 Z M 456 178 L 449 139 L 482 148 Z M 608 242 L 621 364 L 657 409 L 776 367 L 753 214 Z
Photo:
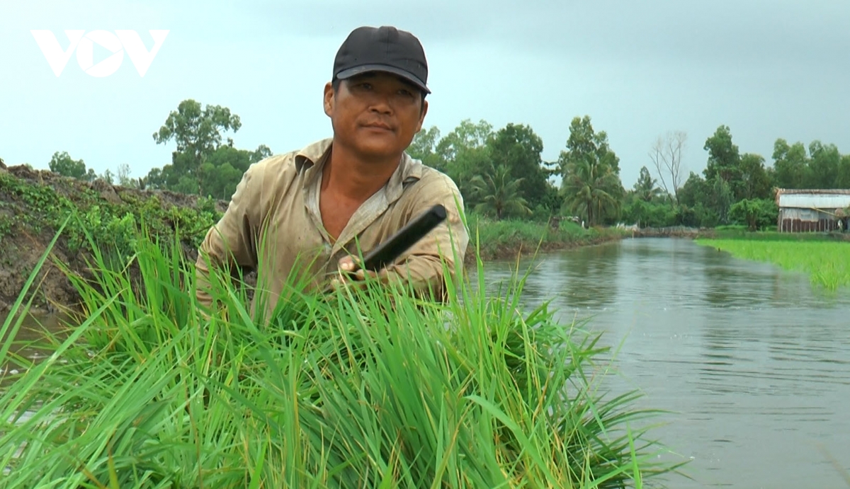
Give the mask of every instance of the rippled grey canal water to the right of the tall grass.
M 485 266 L 488 288 L 517 263 Z M 523 301 L 589 318 L 620 387 L 672 413 L 655 436 L 689 459 L 672 487 L 847 487 L 850 295 L 688 239 L 626 239 L 539 256 Z M 838 468 L 836 468 L 836 466 Z

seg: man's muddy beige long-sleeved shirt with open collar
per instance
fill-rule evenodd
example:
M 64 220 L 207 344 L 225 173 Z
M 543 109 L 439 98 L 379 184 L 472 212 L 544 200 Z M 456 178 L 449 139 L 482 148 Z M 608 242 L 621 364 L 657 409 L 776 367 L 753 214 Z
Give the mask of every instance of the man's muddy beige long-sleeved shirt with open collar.
M 460 270 L 469 241 L 459 212 L 462 196 L 450 177 L 406 153 L 388 183 L 360 205 L 333 242 L 319 211 L 331 141 L 323 139 L 248 168 L 224 216 L 201 244 L 195 263 L 201 305 L 212 303 L 208 265 L 237 265 L 257 270 L 254 313 L 262 311 L 268 318 L 287 281 L 324 288 L 343 256 L 359 256 L 358 244 L 365 255 L 435 204 L 445 206 L 445 222 L 386 267 L 388 278 L 439 292 L 444 264 L 451 273 Z

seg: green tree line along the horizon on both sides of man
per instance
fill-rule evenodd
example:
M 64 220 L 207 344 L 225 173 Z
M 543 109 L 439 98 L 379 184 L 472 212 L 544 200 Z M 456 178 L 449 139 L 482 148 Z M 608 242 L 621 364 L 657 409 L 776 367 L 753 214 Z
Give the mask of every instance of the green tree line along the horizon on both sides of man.
M 268 146 L 237 149 L 224 133 L 238 132 L 241 120 L 220 105 L 187 99 L 178 104 L 153 139 L 173 142 L 170 164 L 147 175 L 129 177 L 127 165 L 117 174 L 96 175 L 82 160 L 57 152 L 51 171 L 84 180 L 103 178 L 128 187 L 170 190 L 229 200 L 242 174 L 272 155 Z M 776 188 L 850 188 L 850 155 L 835 144 L 779 138 L 772 164 L 762 155 L 741 153 L 728 126 L 706 138 L 706 168 L 683 174 L 688 135 L 666 132 L 649 145 L 647 165 L 637 183 L 624 188 L 620 158 L 605 131 L 589 115 L 574 117 L 557 160 L 545 161 L 543 142 L 524 124 L 496 129 L 487 121 L 464 120 L 443 135 L 436 126 L 416 134 L 408 153 L 444 171 L 461 191 L 468 210 L 494 219 L 547 222 L 570 216 L 588 226 L 618 222 L 641 227 L 714 228 L 744 224 L 751 229 L 775 225 Z M 559 178 L 558 178 L 559 177 Z M 559 180 L 559 183 L 556 183 Z

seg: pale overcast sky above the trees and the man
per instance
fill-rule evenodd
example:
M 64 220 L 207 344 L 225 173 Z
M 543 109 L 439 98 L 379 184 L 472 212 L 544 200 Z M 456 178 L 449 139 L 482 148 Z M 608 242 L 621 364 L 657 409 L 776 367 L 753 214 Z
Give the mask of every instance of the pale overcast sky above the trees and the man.
M 399 6 L 400 5 L 400 6 Z M 241 117 L 235 145 L 275 153 L 331 135 L 321 108 L 334 54 L 359 25 L 420 38 L 433 94 L 426 126 L 463 119 L 532 126 L 555 160 L 570 120 L 609 134 L 631 187 L 655 138 L 688 134 L 684 165 L 728 125 L 742 152 L 768 164 L 776 138 L 836 143 L 850 153 L 847 0 L 240 0 L 4 2 L 0 15 L 0 158 L 47 168 L 54 151 L 98 173 L 131 177 L 170 162 L 151 135 L 184 98 Z M 71 56 L 59 77 L 31 34 L 168 30 L 139 76 L 125 54 L 111 76 Z M 94 51 L 94 63 L 111 54 Z

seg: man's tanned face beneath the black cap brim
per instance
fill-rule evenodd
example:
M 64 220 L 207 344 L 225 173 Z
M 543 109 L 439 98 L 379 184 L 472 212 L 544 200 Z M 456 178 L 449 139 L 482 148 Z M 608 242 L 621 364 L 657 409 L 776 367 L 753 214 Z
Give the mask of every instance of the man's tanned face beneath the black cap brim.
M 382 72 L 364 73 L 325 87 L 325 113 L 334 138 L 365 157 L 399 155 L 410 145 L 428 112 L 419 89 Z

